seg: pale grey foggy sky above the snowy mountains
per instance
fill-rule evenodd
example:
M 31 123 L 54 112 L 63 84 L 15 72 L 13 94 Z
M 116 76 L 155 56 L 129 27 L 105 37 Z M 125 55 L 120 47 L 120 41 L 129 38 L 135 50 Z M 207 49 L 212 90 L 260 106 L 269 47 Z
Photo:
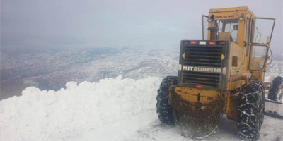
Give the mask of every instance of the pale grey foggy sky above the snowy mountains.
M 1 49 L 178 47 L 200 39 L 209 8 L 236 6 L 277 18 L 271 47 L 282 53 L 282 0 L 1 0 Z

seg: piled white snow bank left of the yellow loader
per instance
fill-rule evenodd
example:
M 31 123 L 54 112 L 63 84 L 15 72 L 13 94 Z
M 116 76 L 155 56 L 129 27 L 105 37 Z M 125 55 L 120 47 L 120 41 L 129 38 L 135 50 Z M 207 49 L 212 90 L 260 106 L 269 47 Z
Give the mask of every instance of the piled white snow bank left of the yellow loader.
M 160 78 L 68 82 L 57 92 L 35 87 L 0 101 L 0 140 L 69 140 L 155 109 Z

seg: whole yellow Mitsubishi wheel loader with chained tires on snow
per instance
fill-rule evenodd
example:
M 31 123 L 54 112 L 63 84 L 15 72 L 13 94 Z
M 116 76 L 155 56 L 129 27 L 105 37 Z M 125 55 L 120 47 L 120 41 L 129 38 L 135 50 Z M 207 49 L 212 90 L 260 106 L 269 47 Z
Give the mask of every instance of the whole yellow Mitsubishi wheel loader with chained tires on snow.
M 248 7 L 202 15 L 202 40 L 180 42 L 178 77 L 168 76 L 158 89 L 159 120 L 201 139 L 226 114 L 236 120 L 239 137 L 258 140 L 264 112 L 282 116 L 282 77 L 269 86 L 269 100 L 263 84 L 274 25 L 275 18 L 256 17 Z

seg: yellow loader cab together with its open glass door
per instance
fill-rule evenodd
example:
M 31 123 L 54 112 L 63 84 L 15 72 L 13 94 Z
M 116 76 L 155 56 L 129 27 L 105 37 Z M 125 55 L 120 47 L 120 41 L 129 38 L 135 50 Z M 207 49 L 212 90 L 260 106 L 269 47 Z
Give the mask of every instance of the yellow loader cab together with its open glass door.
M 210 9 L 202 15 L 202 40 L 226 40 L 243 48 L 242 69 L 263 80 L 275 18 L 258 18 L 247 6 Z

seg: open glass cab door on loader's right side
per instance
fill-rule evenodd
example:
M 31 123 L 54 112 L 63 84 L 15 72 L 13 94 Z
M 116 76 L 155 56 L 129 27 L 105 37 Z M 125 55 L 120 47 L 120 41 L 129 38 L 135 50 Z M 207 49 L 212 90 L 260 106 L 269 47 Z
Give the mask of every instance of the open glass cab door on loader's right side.
M 250 24 L 248 70 L 252 71 L 253 77 L 263 81 L 275 18 L 256 17 L 252 18 Z

